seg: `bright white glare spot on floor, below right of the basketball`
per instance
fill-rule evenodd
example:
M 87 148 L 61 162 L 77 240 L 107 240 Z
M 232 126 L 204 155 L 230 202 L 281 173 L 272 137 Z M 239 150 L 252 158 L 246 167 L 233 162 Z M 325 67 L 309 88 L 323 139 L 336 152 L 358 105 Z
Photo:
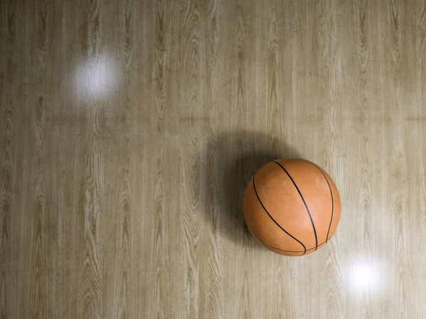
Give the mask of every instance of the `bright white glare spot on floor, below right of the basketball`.
M 359 262 L 351 267 L 351 285 L 358 291 L 373 291 L 378 288 L 380 274 L 371 262 Z

